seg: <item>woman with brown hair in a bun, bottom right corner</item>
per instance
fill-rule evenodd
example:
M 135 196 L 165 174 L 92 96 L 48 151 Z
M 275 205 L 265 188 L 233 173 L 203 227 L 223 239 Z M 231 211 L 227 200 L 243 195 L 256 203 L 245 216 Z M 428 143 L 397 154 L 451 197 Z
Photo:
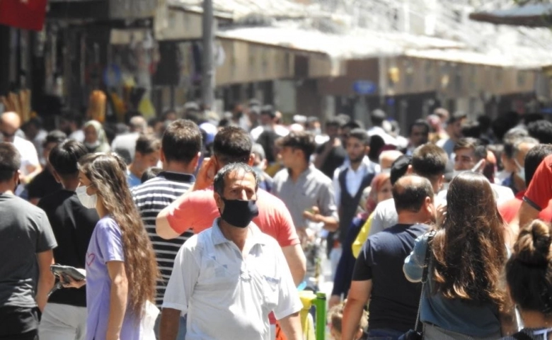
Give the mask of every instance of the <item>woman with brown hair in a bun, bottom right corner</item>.
M 552 339 L 552 230 L 534 220 L 519 231 L 514 251 L 506 263 L 510 295 L 522 317 L 524 329 L 503 339 Z

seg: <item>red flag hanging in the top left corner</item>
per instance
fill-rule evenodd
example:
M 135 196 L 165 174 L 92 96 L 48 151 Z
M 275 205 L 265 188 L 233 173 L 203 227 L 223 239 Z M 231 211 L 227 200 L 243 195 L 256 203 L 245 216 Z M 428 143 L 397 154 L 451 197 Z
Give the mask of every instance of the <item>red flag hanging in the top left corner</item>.
M 47 0 L 0 0 L 0 23 L 25 30 L 42 30 Z

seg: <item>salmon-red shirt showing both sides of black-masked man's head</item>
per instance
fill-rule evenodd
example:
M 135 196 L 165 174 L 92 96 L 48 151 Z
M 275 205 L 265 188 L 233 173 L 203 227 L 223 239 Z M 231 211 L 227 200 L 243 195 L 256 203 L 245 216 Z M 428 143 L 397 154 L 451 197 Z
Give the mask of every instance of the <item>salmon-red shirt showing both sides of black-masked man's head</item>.
M 259 189 L 257 205 L 259 215 L 253 219 L 253 222 L 261 231 L 274 237 L 281 247 L 299 244 L 292 215 L 280 198 Z M 169 212 L 167 220 L 178 234 L 188 229 L 199 234 L 211 227 L 217 217 L 220 217 L 219 208 L 214 201 L 213 190 L 209 188 L 186 194 L 185 200 Z

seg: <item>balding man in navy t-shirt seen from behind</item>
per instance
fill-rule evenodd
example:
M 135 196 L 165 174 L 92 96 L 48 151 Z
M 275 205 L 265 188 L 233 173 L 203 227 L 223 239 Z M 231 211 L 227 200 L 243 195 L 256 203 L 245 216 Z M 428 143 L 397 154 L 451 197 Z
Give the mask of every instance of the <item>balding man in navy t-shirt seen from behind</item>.
M 405 176 L 393 186 L 393 199 L 398 223 L 368 237 L 355 263 L 343 313 L 343 339 L 356 334 L 368 300 L 367 339 L 398 339 L 414 327 L 422 285 L 406 280 L 403 263 L 415 239 L 427 232 L 424 223 L 435 219 L 433 189 L 425 178 Z

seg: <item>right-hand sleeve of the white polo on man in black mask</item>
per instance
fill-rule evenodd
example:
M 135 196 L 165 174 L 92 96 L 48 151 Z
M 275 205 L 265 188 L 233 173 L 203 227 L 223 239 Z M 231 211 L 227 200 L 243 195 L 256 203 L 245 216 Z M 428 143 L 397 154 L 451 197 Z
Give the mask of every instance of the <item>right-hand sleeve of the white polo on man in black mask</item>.
M 299 299 L 299 293 L 293 282 L 292 273 L 289 271 L 286 259 L 282 253 L 282 249 L 274 247 L 277 256 L 278 270 L 280 276 L 280 289 L 278 292 L 278 303 L 274 309 L 274 316 L 277 320 L 283 319 L 295 312 L 299 312 L 303 308 L 303 304 Z

